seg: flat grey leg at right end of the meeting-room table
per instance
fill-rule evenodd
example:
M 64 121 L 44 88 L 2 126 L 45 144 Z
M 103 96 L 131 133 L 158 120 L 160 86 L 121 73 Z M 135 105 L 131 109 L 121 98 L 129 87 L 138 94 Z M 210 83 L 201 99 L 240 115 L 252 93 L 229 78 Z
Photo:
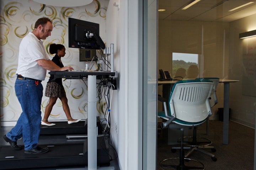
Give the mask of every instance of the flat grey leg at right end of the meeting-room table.
M 229 131 L 229 83 L 224 83 L 223 144 L 228 145 Z

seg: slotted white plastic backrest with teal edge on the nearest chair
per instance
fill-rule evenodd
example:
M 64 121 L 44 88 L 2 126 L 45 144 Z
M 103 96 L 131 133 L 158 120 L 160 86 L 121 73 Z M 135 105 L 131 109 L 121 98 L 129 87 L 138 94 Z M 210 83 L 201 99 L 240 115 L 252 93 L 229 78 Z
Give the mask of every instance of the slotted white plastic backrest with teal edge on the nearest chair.
M 172 122 L 181 125 L 202 124 L 211 114 L 209 96 L 213 82 L 210 80 L 181 80 L 172 87 L 169 110 Z

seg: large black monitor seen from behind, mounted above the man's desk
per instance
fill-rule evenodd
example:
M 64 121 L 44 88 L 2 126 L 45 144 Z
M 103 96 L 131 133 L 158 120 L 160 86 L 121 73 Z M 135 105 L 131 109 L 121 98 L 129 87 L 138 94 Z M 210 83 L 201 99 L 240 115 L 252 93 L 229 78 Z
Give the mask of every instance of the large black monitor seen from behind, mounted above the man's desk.
M 105 49 L 100 38 L 100 25 L 75 18 L 68 18 L 69 47 L 78 49 Z

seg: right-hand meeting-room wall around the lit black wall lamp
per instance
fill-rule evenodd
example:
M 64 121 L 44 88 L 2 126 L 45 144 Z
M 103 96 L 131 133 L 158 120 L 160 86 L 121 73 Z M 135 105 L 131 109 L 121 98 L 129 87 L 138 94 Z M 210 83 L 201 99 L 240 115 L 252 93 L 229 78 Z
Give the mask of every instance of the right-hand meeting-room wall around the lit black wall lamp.
M 239 33 L 255 30 L 256 23 L 251 22 L 255 17 L 256 14 L 230 22 L 229 33 L 229 78 L 239 80 L 230 86 L 231 117 L 251 127 L 256 114 L 256 38 L 239 39 Z

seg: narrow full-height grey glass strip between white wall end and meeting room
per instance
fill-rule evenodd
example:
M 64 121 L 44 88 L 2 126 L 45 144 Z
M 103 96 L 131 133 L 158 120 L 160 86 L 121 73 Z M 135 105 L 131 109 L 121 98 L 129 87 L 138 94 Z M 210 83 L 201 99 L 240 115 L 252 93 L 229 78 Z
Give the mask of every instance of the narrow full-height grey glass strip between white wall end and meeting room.
M 143 1 L 143 170 L 156 168 L 157 0 Z

